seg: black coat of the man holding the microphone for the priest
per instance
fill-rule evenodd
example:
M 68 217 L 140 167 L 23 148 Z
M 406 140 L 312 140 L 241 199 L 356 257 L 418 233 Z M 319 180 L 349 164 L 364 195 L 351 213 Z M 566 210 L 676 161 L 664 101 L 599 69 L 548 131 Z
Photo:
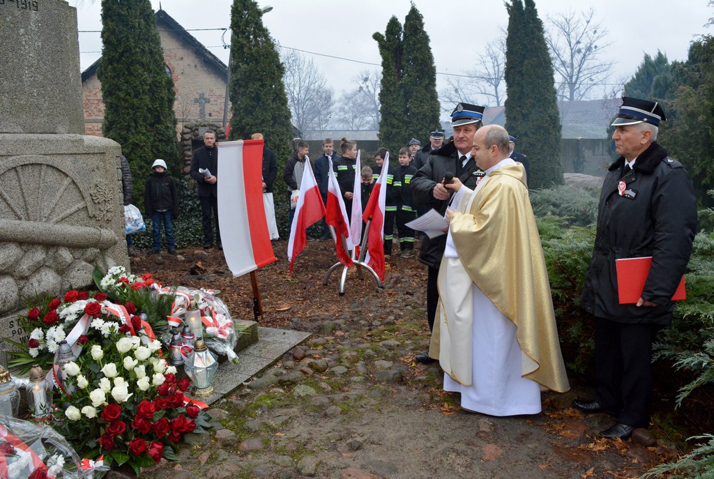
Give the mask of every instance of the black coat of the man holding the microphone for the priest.
M 458 153 L 453 141 L 446 143 L 446 145 L 431 153 L 424 166 L 411 178 L 411 196 L 415 206 L 423 205 L 428 208 L 434 208 L 442 215 L 446 213 L 446 206 L 449 201 L 436 200 L 432 193 L 436 183 L 441 183 L 447 171 L 451 171 L 451 173 L 457 171 L 456 162 L 459 161 L 458 158 L 460 156 L 461 154 Z M 461 175 L 458 178 L 461 183 L 473 190 L 473 188 L 476 188 L 478 178 L 482 178 L 483 175 L 483 171 L 476 166 L 476 161 L 472 157 L 468 158 L 468 162 L 462 168 Z M 437 236 L 433 239 L 424 238 L 421 244 L 421 252 L 419 253 L 419 261 L 431 266 L 431 268 L 438 268 L 444 248 L 446 248 L 446 235 Z

